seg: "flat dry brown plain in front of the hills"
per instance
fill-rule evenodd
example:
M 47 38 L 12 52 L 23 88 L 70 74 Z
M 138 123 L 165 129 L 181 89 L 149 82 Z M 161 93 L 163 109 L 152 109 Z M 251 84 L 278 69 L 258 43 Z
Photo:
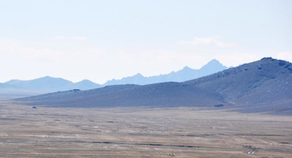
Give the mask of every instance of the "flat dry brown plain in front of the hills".
M 1 158 L 292 158 L 292 116 L 0 102 Z

